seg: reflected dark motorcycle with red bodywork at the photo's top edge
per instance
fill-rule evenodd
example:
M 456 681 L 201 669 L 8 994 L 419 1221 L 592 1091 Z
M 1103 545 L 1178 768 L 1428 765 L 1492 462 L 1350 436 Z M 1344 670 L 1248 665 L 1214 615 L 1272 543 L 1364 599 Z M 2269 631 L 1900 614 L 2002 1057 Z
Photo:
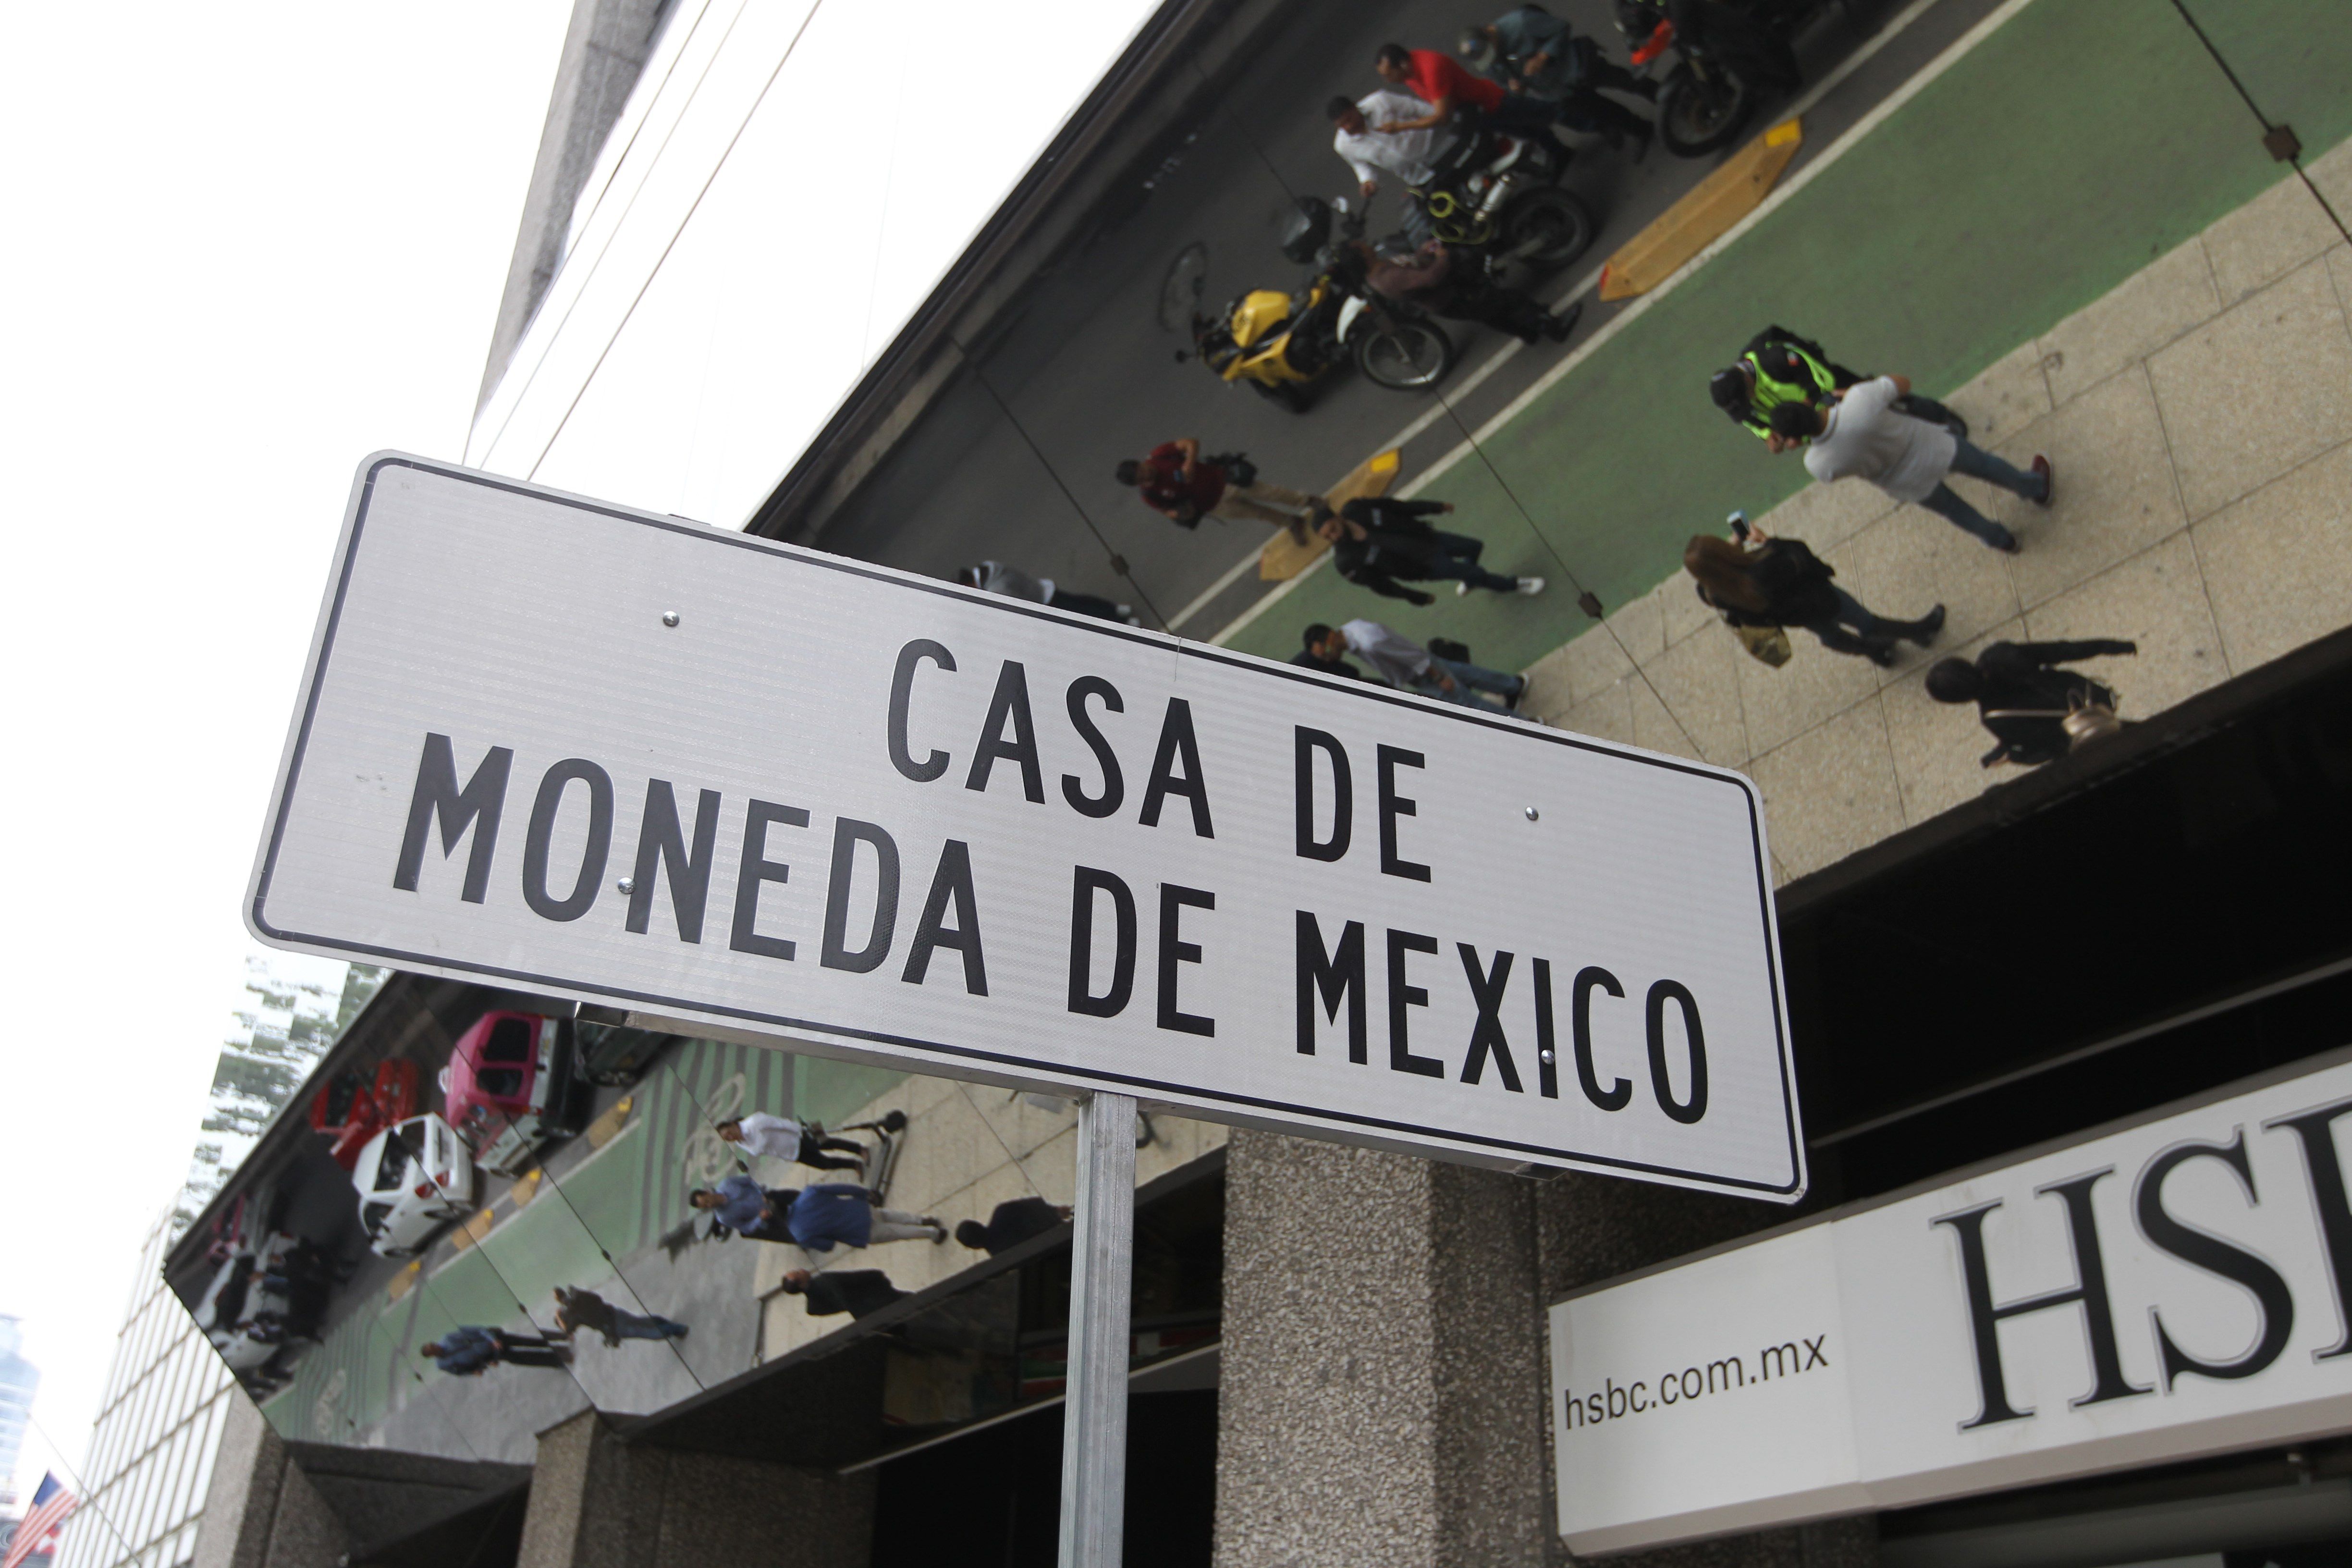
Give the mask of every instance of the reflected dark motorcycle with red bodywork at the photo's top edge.
M 1849 21 L 1863 21 L 1863 0 L 1837 5 Z M 1675 9 L 1668 0 L 1618 0 L 1618 31 L 1632 45 L 1637 71 L 1668 49 L 1679 56 L 1658 87 L 1658 141 L 1677 158 L 1700 158 L 1729 146 L 1766 92 L 1795 89 L 1788 40 L 1825 9 L 1825 0 L 1700 0 L 1698 14 L 1715 16 L 1719 35 L 1677 26 Z

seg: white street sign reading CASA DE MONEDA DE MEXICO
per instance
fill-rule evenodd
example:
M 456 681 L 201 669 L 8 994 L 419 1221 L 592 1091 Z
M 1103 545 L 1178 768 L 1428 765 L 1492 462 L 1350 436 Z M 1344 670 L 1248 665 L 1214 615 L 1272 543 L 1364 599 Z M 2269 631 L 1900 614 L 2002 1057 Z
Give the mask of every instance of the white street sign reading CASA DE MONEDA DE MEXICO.
M 1494 1166 L 1804 1190 L 1736 773 L 372 458 L 263 940 Z

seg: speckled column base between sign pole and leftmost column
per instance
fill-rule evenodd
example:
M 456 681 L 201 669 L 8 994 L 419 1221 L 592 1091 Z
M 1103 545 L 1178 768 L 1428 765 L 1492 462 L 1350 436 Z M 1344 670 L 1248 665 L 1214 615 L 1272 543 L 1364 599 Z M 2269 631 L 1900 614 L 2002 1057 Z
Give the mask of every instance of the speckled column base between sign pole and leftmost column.
M 517 1568 L 866 1568 L 875 1479 L 630 1446 L 595 1413 L 539 1434 Z

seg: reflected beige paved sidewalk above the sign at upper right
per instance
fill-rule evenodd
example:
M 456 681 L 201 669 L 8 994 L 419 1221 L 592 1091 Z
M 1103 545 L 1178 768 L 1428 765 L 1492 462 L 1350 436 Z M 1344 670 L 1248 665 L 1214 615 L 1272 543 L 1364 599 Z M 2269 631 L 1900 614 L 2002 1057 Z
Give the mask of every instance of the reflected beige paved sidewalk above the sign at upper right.
M 2312 174 L 2352 212 L 2352 146 Z M 2020 343 L 1950 402 L 1978 444 L 2056 463 L 2046 512 L 1962 482 L 1992 498 L 2023 555 L 1863 482 L 1809 487 L 1759 520 L 1813 545 L 1879 614 L 1943 602 L 1933 651 L 1905 646 L 1879 670 L 1795 632 L 1795 658 L 1773 670 L 1677 571 L 1538 661 L 1529 712 L 1750 771 L 1790 879 L 2018 776 L 1978 766 L 1973 708 L 1922 691 L 1933 658 L 1994 639 L 2131 637 L 2138 658 L 2089 668 L 2122 691 L 2124 717 L 2147 717 L 2352 623 L 2352 249 L 2300 181 Z

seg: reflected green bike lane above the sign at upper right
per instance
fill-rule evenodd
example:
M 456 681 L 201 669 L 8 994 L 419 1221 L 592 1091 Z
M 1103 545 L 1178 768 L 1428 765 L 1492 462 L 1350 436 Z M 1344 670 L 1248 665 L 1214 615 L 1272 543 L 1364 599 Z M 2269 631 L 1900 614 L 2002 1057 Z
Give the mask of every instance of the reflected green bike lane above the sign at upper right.
M 2190 9 L 2305 162 L 2352 134 L 2340 0 Z M 1324 569 L 1230 646 L 1289 658 L 1303 625 L 1371 616 L 1522 670 L 1592 625 L 1571 578 L 1618 609 L 1691 534 L 1806 484 L 1795 454 L 1773 458 L 1708 400 L 1764 324 L 1947 393 L 2279 179 L 2291 169 L 2173 5 L 2032 0 L 1428 487 L 1489 567 L 1550 578 L 1541 599 L 1437 583 L 1421 609 Z

